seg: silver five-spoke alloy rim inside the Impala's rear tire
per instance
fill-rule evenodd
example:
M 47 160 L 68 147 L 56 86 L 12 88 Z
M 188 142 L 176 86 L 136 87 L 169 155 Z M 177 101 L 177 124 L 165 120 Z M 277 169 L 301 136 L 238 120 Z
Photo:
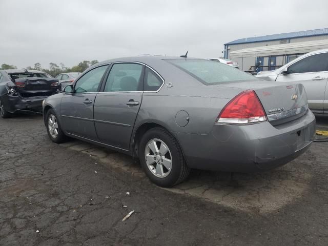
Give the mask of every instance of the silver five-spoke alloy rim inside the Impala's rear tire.
M 158 178 L 167 177 L 172 170 L 172 155 L 169 147 L 160 139 L 151 139 L 145 148 L 147 167 Z

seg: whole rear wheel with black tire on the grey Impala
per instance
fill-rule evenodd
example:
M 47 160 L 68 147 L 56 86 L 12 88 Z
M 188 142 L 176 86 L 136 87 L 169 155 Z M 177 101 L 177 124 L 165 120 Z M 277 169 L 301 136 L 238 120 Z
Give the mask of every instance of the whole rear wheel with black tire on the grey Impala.
M 141 167 L 156 185 L 172 187 L 188 177 L 190 168 L 182 150 L 174 136 L 165 129 L 148 130 L 142 136 L 139 147 Z

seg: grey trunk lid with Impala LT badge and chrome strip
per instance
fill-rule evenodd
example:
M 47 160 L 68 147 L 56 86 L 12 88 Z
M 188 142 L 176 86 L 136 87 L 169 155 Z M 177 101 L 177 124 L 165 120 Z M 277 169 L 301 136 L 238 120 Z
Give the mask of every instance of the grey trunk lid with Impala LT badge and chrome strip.
M 262 80 L 221 84 L 219 87 L 254 90 L 272 125 L 299 118 L 308 110 L 302 84 L 281 84 Z

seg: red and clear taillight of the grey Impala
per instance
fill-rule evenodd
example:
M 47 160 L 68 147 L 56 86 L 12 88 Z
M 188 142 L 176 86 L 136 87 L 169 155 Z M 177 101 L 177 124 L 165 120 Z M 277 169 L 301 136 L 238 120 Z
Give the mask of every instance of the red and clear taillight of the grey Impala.
M 216 122 L 226 124 L 252 124 L 267 120 L 256 93 L 243 91 L 224 107 Z

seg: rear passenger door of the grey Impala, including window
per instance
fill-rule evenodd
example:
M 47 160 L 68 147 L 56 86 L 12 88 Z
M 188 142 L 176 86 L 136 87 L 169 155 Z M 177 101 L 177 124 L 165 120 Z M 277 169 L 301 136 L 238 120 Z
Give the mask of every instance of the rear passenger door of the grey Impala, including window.
M 104 144 L 129 149 L 144 91 L 144 69 L 137 63 L 113 64 L 94 104 L 95 128 Z

